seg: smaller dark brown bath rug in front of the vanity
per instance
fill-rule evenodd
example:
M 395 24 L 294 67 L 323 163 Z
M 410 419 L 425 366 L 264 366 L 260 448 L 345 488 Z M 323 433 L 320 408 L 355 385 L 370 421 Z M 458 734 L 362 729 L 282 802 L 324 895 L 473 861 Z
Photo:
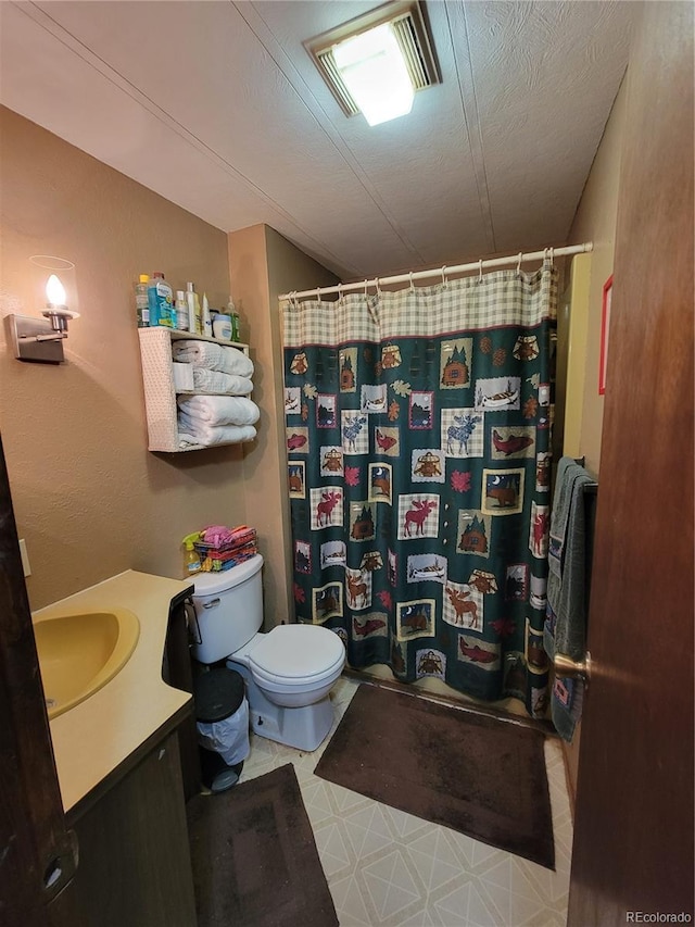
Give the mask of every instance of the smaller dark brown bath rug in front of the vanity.
M 337 927 L 291 763 L 187 813 L 199 927 Z

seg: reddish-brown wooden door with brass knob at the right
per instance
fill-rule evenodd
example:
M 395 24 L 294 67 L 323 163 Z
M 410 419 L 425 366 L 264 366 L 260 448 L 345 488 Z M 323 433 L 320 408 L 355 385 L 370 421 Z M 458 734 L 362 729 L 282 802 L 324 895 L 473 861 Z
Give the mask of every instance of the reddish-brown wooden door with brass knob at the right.
M 571 927 L 693 916 L 691 3 L 644 4 L 628 80 Z

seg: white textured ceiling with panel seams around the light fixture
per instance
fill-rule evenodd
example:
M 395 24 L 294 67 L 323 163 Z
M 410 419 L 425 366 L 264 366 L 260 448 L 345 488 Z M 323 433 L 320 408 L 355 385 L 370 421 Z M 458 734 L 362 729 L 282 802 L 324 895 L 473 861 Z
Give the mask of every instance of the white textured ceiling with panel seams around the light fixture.
M 343 115 L 302 42 L 362 0 L 0 2 L 0 100 L 213 225 L 344 280 L 558 246 L 623 76 L 627 2 L 426 4 L 442 84 Z

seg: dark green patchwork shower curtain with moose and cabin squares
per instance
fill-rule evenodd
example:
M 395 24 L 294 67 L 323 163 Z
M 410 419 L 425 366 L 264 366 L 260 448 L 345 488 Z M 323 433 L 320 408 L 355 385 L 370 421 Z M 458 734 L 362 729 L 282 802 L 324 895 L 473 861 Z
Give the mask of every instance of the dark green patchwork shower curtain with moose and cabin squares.
M 557 280 L 283 305 L 294 601 L 355 668 L 547 704 Z

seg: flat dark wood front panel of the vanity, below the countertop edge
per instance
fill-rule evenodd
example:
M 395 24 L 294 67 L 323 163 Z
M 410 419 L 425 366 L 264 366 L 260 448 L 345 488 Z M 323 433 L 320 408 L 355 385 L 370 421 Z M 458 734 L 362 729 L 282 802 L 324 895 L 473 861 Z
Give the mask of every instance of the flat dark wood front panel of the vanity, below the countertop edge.
M 194 927 L 176 732 L 75 822 L 77 898 L 99 927 Z

